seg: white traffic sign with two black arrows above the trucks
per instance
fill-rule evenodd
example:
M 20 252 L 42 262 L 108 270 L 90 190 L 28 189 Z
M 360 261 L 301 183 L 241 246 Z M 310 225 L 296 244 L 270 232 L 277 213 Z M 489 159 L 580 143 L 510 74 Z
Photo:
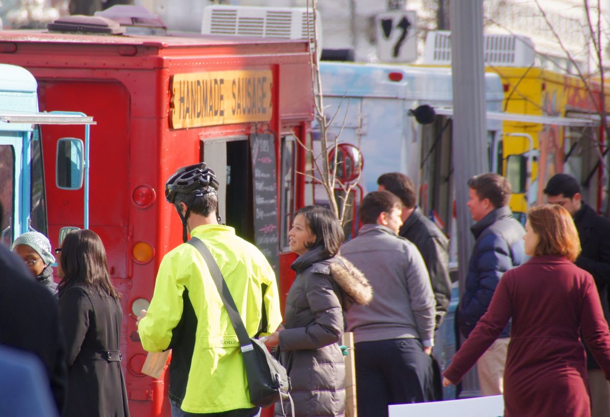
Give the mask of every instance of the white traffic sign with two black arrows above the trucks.
M 377 53 L 381 62 L 411 62 L 417 59 L 417 13 L 396 10 L 376 16 Z

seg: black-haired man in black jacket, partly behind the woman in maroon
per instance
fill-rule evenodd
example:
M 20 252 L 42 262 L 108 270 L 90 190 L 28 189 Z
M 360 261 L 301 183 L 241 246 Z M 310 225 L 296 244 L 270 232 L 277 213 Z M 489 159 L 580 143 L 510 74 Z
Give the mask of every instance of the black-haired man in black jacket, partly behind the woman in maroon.
M 576 259 L 576 266 L 589 272 L 595 279 L 600 293 L 601 307 L 606 321 L 610 322 L 608 290 L 610 285 L 610 220 L 598 216 L 582 200 L 580 185 L 576 178 L 568 174 L 556 174 L 548 180 L 544 189 L 548 203 L 564 206 L 572 214 L 582 252 Z M 610 383 L 597 364 L 591 352 L 587 351 L 587 373 L 591 393 L 592 417 L 610 416 Z

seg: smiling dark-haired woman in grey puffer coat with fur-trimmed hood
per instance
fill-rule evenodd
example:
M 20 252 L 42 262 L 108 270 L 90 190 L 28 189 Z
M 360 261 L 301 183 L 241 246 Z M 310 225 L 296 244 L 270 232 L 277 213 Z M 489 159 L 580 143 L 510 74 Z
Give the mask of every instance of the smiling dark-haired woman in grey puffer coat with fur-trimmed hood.
M 285 324 L 265 341 L 277 346 L 292 383 L 295 416 L 343 416 L 345 364 L 338 342 L 343 310 L 368 304 L 373 291 L 349 261 L 338 256 L 343 230 L 334 214 L 320 206 L 296 212 L 289 233 L 296 278 L 286 299 Z M 278 416 L 291 415 L 290 404 L 275 406 Z

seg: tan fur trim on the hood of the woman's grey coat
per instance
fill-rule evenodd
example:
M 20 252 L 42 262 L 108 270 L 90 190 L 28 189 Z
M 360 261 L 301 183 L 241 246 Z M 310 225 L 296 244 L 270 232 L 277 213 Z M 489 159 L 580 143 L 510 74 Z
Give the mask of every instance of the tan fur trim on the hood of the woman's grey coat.
M 332 278 L 351 302 L 360 305 L 368 305 L 371 302 L 373 287 L 367 277 L 353 263 L 339 255 L 328 259 L 328 263 L 331 267 Z

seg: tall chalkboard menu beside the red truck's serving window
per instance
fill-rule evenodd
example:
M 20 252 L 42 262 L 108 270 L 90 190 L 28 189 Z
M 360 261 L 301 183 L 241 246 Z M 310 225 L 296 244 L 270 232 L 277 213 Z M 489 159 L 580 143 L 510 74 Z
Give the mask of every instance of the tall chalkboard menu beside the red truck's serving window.
M 272 134 L 250 136 L 254 189 L 254 243 L 276 277 L 279 269 L 278 189 L 275 144 Z

